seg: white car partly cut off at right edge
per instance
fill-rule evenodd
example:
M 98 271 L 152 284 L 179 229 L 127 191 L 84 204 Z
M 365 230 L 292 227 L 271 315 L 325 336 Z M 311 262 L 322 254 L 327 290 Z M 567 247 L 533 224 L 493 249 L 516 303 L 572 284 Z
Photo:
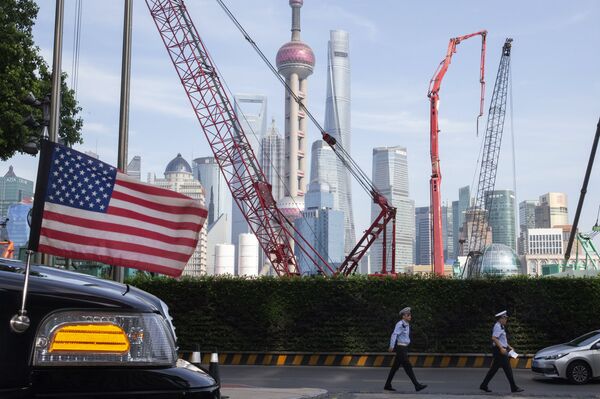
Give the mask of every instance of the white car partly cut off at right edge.
M 567 378 L 574 384 L 600 377 L 600 330 L 542 349 L 535 354 L 531 371 L 545 377 Z

